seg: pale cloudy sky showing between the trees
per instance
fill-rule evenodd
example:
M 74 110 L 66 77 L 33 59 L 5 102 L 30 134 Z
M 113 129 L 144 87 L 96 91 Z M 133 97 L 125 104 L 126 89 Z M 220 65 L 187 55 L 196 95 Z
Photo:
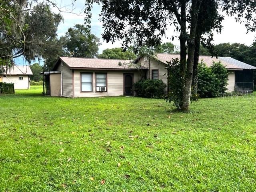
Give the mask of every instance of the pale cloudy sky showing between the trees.
M 76 0 L 72 5 L 71 0 L 55 0 L 56 4 L 63 12 L 61 12 L 64 22 L 60 23 L 58 26 L 57 34 L 58 36 L 64 36 L 65 32 L 67 32 L 68 28 L 73 27 L 75 24 L 84 24 L 84 0 Z M 103 33 L 102 23 L 99 21 L 101 6 L 98 4 L 94 4 L 92 8 L 92 23 L 91 23 L 91 32 L 95 34 L 102 45 L 99 46 L 99 54 L 102 53 L 102 50 L 106 48 L 115 48 L 121 47 L 121 42 L 115 42 L 112 44 L 111 42 L 106 43 L 102 40 L 101 34 Z M 52 8 L 52 11 L 59 12 L 57 8 Z M 73 13 L 70 13 L 73 12 Z M 234 18 L 226 17 L 222 22 L 223 30 L 221 34 L 214 33 L 214 44 L 220 43 L 243 43 L 248 46 L 252 44 L 254 38 L 256 36 L 256 32 L 249 32 L 246 34 L 247 30 L 244 24 L 240 24 L 235 22 Z M 166 34 L 174 34 L 174 28 L 168 28 Z M 170 36 L 171 36 L 170 35 Z M 162 42 L 172 42 L 177 47 L 179 47 L 178 39 L 174 39 L 171 41 L 170 39 L 163 38 Z M 17 58 L 15 60 L 16 64 L 24 64 L 26 61 L 23 58 Z M 35 61 L 38 62 L 38 61 Z M 42 62 L 41 62 L 42 64 Z

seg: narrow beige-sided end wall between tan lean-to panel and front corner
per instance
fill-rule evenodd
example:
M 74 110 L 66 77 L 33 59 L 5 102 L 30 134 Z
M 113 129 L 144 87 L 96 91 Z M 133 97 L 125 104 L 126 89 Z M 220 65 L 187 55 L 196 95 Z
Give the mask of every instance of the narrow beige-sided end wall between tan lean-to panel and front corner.
M 62 71 L 62 96 L 73 97 L 73 74 L 66 64 L 59 64 L 56 71 Z

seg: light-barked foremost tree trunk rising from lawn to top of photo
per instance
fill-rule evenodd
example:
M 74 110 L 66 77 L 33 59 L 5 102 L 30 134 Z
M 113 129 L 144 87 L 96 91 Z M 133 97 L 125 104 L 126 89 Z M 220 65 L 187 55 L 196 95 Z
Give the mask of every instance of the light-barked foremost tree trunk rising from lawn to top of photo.
M 199 1 L 200 2 L 200 1 Z M 188 111 L 190 105 L 191 96 L 191 84 L 193 77 L 193 66 L 194 66 L 194 52 L 195 52 L 195 36 L 196 36 L 196 26 L 197 26 L 197 10 L 198 5 L 197 0 L 192 1 L 191 5 L 191 23 L 190 23 L 190 36 L 188 40 L 188 62 L 185 77 L 185 87 L 182 99 L 182 111 Z

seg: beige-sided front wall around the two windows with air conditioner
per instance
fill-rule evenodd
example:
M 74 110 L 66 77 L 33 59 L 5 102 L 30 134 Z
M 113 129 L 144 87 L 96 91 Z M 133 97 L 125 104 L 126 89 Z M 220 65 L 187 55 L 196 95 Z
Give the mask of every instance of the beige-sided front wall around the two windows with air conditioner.
M 81 92 L 81 72 L 91 72 L 92 92 Z M 95 73 L 107 73 L 107 92 L 96 92 Z M 95 71 L 95 70 L 74 70 L 74 97 L 102 97 L 102 96 L 122 96 L 124 95 L 124 73 L 134 74 L 134 82 L 140 80 L 137 71 Z

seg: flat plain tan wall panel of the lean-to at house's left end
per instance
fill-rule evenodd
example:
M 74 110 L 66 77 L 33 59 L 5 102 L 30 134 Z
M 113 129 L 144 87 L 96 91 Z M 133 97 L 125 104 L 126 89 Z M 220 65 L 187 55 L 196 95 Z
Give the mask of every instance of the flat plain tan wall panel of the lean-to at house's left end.
M 51 96 L 61 96 L 61 73 L 50 74 Z

